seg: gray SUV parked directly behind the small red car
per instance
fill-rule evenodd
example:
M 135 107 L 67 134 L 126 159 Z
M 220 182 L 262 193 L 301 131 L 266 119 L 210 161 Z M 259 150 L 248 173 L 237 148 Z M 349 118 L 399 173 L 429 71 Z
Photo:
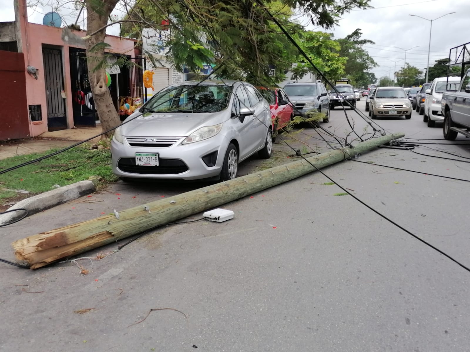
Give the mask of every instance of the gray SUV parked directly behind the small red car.
M 329 122 L 329 97 L 325 85 L 321 81 L 314 83 L 288 83 L 284 86 L 294 107 L 294 115 L 302 115 L 307 111 L 319 111 L 326 115 L 323 122 Z

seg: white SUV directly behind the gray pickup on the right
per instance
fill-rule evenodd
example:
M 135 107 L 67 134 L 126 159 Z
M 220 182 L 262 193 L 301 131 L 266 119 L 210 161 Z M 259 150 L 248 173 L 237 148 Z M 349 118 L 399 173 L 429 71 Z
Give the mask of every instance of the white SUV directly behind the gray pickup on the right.
M 446 88 L 446 85 L 449 86 Z M 434 78 L 431 83 L 430 89 L 426 89 L 425 93 L 428 94 L 424 101 L 424 117 L 423 121 L 428 122 L 428 127 L 434 127 L 436 121 L 444 121 L 444 115 L 442 115 L 441 99 L 442 93 L 447 89 L 456 90 L 460 84 L 460 77 L 447 77 Z

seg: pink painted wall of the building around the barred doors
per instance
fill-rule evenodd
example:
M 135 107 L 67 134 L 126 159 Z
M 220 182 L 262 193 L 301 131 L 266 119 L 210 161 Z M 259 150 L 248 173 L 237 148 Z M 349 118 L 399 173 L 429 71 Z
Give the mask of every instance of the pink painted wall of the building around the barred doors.
M 22 4 L 24 3 L 24 5 Z M 34 66 L 38 69 L 38 79 L 35 79 L 28 73 L 26 75 L 26 99 L 28 105 L 41 105 L 42 110 L 42 121 L 29 122 L 31 137 L 40 135 L 43 132 L 47 132 L 47 98 L 45 88 L 45 77 L 44 77 L 44 64 L 42 56 L 42 46 L 56 46 L 62 49 L 62 61 L 63 61 L 63 80 L 64 80 L 64 91 L 65 91 L 65 110 L 67 116 L 67 128 L 73 127 L 73 110 L 72 100 L 73 93 L 71 87 L 70 78 L 70 59 L 69 59 L 69 48 L 79 47 L 85 48 L 85 43 L 79 45 L 76 41 L 73 45 L 67 43 L 69 38 L 65 33 L 63 38 L 63 29 L 42 24 L 29 23 L 27 17 L 26 0 L 20 1 L 20 25 L 21 34 L 23 41 L 23 53 L 24 53 L 24 64 L 25 67 Z M 69 31 L 69 30 L 67 30 Z M 85 31 L 70 31 L 71 36 L 77 36 L 80 38 L 85 37 Z M 72 39 L 72 38 L 70 38 Z M 65 41 L 64 41 L 65 40 Z M 71 40 L 73 41 L 73 40 Z M 134 56 L 134 44 L 133 39 L 120 38 L 115 36 L 106 36 L 105 42 L 110 45 L 107 49 L 109 53 L 118 53 L 124 55 Z M 78 45 L 77 45 L 78 44 Z

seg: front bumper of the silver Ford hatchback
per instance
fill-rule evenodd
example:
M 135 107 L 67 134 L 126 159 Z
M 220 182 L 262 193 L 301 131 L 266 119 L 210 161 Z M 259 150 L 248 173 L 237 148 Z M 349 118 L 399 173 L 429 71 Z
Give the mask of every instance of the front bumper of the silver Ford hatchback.
M 124 137 L 124 143 L 111 142 L 113 173 L 118 177 L 197 180 L 218 176 L 222 169 L 228 138 L 218 135 L 203 141 L 181 145 L 184 138 L 170 147 L 131 146 Z M 158 154 L 159 166 L 135 165 L 135 153 Z M 214 154 L 211 154 L 214 153 Z M 217 156 L 215 157 L 215 153 Z M 204 156 L 216 158 L 214 166 L 207 166 Z M 206 158 L 207 161 L 207 158 Z M 211 165 L 211 163 L 209 163 Z

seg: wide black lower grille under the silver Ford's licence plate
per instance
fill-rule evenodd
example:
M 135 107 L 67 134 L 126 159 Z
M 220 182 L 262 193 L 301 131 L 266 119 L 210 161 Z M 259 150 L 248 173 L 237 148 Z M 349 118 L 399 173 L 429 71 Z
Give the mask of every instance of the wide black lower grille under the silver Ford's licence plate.
M 143 175 L 175 175 L 188 171 L 186 164 L 178 159 L 159 159 L 158 164 L 158 166 L 139 166 L 135 165 L 135 158 L 121 158 L 118 161 L 118 168 L 131 174 Z

